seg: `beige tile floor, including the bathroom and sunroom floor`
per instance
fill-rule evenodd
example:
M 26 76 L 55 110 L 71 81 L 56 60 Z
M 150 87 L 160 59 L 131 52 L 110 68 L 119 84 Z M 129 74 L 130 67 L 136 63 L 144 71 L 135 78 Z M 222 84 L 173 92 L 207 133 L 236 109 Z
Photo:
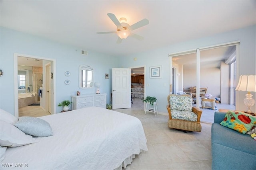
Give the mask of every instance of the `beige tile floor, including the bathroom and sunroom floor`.
M 216 104 L 217 108 L 233 109 L 233 106 Z M 211 157 L 211 122 L 215 110 L 202 109 L 202 131 L 184 133 L 170 129 L 168 115 L 144 114 L 144 103 L 133 99 L 129 109 L 114 109 L 121 113 L 138 117 L 142 122 L 147 138 L 148 151 L 142 151 L 126 170 L 210 170 Z M 40 106 L 26 106 L 19 109 L 20 116 L 43 116 Z

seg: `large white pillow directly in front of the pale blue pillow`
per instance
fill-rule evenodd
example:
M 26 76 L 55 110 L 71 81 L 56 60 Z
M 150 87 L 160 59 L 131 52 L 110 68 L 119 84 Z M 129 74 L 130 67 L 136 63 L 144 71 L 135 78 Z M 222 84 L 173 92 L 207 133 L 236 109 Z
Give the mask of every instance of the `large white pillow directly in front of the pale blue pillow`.
M 30 135 L 26 135 L 14 125 L 0 120 L 0 145 L 1 147 L 19 147 L 38 142 Z

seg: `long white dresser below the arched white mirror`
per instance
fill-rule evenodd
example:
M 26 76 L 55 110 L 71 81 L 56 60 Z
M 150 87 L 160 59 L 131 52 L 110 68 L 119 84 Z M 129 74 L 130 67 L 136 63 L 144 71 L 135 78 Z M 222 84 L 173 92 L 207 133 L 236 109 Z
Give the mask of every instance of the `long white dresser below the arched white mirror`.
M 73 110 L 92 106 L 106 108 L 107 94 L 88 94 L 71 97 Z

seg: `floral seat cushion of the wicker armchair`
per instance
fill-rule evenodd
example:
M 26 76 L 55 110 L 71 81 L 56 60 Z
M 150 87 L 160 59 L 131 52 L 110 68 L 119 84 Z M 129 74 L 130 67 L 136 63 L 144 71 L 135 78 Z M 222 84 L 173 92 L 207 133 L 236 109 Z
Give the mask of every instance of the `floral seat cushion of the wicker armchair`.
M 192 111 L 172 110 L 172 119 L 197 121 L 197 115 Z

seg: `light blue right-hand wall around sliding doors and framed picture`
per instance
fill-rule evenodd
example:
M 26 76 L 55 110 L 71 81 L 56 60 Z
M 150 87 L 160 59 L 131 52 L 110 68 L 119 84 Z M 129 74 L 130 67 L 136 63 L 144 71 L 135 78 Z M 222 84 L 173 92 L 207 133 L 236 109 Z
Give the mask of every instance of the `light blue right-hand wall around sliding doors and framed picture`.
M 160 112 L 167 113 L 166 105 L 168 104 L 167 96 L 169 94 L 168 84 L 170 76 L 168 54 L 238 40 L 240 41 L 240 59 L 239 61 L 237 61 L 239 63 L 239 75 L 256 74 L 256 25 L 216 34 L 210 37 L 198 38 L 158 49 L 152 49 L 144 53 L 122 56 L 119 57 L 118 66 L 128 68 L 145 65 L 146 73 L 144 80 L 146 96 L 156 96 L 156 98 L 158 99 L 158 110 Z M 137 58 L 136 61 L 134 61 L 135 57 Z M 162 66 L 162 78 L 150 79 L 149 67 L 158 65 Z M 214 80 L 209 83 L 214 83 Z M 147 84 L 149 84 L 149 86 L 147 86 Z M 239 106 L 237 106 L 237 108 L 239 110 L 246 109 L 243 103 L 245 94 L 246 92 L 237 92 L 236 97 L 239 102 Z M 255 93 L 252 94 L 255 98 Z M 252 110 L 256 111 L 255 105 Z

